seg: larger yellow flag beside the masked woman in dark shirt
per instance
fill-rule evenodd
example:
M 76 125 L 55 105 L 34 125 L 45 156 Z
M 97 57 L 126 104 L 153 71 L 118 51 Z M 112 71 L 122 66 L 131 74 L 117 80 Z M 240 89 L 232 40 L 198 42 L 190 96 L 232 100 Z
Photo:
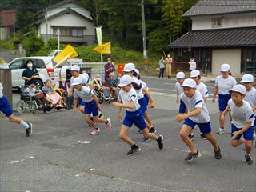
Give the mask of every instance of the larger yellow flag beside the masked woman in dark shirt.
M 67 59 L 75 58 L 77 56 L 78 56 L 78 53 L 74 50 L 74 48 L 70 45 L 67 45 L 64 48 L 64 50 L 62 50 L 62 52 L 57 54 L 57 56 L 54 58 L 54 62 L 57 62 L 56 66 L 58 66 L 62 62 L 65 62 Z

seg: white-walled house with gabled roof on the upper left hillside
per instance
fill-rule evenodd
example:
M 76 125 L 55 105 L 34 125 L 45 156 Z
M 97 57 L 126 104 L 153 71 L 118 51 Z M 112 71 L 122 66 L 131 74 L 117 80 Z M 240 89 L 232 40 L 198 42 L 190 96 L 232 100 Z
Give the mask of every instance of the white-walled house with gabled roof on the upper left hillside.
M 47 42 L 49 38 L 60 38 L 61 43 L 90 45 L 95 41 L 95 26 L 90 12 L 80 2 L 65 0 L 34 14 L 38 18 L 32 26 L 38 36 Z

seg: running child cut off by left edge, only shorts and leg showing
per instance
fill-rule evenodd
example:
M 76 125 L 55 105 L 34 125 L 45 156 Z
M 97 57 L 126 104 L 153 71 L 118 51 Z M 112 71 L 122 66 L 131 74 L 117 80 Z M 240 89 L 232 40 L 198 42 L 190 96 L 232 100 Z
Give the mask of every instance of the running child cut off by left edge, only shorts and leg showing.
M 14 117 L 13 110 L 10 107 L 10 102 L 2 94 L 2 83 L 0 82 L 0 111 L 9 118 L 10 122 L 15 122 L 24 126 L 26 128 L 26 137 L 29 137 L 32 134 L 32 123 L 24 122 L 21 118 Z

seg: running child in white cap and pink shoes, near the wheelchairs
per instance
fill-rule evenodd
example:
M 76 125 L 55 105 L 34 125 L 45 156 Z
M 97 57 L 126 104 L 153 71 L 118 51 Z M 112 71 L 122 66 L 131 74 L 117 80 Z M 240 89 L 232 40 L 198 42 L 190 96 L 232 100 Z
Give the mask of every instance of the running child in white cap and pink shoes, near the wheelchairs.
M 72 86 L 74 86 L 74 112 L 77 110 L 77 102 L 78 98 L 80 98 L 82 102 L 85 103 L 83 113 L 85 114 L 86 122 L 88 125 L 94 128 L 90 134 L 96 135 L 100 132 L 100 129 L 94 124 L 94 122 L 105 123 L 106 127 L 110 130 L 112 128 L 110 118 L 98 118 L 98 110 L 101 111 L 101 108 L 98 103 L 98 98 L 94 94 L 94 91 L 90 90 L 89 87 L 82 85 L 82 78 L 74 78 L 72 83 Z M 90 114 L 93 114 L 93 121 L 90 119 Z

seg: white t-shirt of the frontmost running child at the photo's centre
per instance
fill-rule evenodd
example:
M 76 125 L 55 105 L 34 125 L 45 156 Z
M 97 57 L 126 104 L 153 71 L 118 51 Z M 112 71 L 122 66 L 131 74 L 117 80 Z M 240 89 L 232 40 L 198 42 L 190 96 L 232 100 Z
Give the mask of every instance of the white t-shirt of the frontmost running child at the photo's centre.
M 136 111 L 141 107 L 138 104 L 138 95 L 136 94 L 136 91 L 134 90 L 134 88 L 131 88 L 128 93 L 124 90 L 120 90 L 118 99 L 125 105 L 129 105 L 131 101 L 134 102 L 134 109 L 132 110 L 126 109 L 128 111 Z

